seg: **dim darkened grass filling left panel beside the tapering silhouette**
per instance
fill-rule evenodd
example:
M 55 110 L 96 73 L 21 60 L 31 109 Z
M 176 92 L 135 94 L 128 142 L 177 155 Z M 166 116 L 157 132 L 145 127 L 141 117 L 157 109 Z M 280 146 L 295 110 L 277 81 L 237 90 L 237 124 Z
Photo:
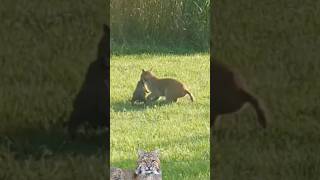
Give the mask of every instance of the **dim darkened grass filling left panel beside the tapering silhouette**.
M 106 21 L 106 1 L 1 1 L 0 179 L 105 179 L 105 135 L 61 124 Z

